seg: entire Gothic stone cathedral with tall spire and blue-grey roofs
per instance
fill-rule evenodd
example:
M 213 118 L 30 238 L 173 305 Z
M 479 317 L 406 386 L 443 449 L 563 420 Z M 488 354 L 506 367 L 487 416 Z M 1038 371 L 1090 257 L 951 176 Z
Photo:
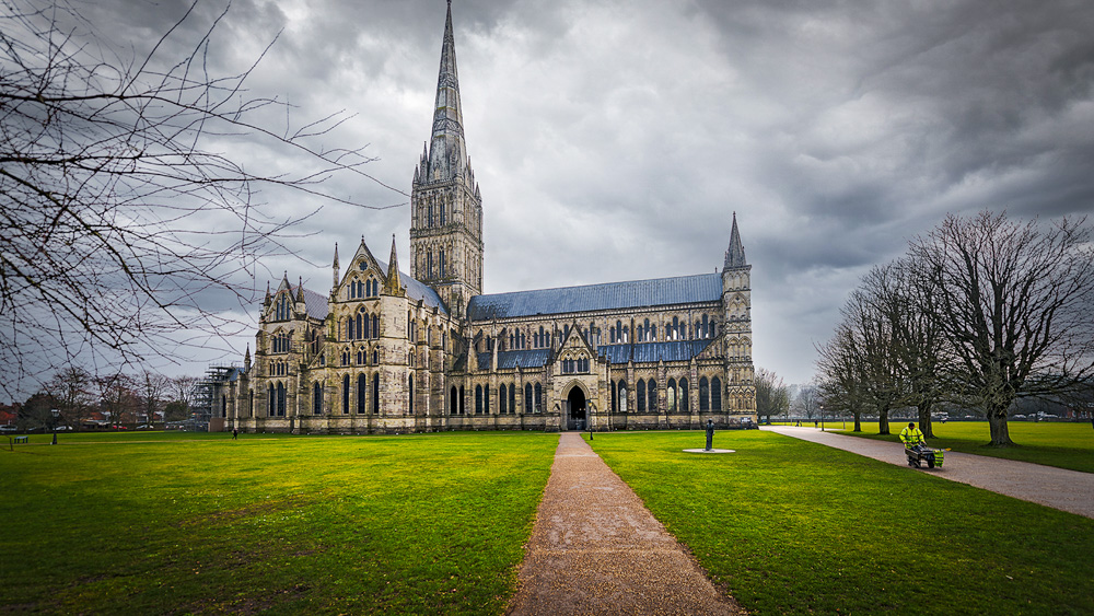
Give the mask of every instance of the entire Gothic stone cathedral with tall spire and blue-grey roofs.
M 729 221 L 728 221 L 729 222 Z M 392 239 L 334 247 L 321 293 L 267 288 L 255 355 L 216 384 L 210 430 L 647 430 L 756 422 L 750 268 L 482 293 L 482 196 L 464 139 L 452 7 L 432 136 L 414 170 L 410 271 Z

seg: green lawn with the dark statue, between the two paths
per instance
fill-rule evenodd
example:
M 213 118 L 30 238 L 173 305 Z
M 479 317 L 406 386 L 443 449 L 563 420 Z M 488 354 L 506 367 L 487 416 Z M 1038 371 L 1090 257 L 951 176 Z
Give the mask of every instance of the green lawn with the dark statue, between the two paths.
M 770 432 L 682 453 L 702 439 L 591 444 L 749 613 L 1094 613 L 1094 520 Z

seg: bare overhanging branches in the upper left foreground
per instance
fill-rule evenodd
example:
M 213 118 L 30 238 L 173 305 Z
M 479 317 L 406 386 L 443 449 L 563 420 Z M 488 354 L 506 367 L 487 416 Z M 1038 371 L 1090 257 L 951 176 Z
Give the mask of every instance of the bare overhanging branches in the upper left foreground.
M 220 19 L 187 56 L 164 58 L 193 9 L 147 55 L 126 57 L 96 37 L 79 4 L 0 0 L 0 365 L 9 371 L 0 387 L 9 394 L 60 362 L 135 363 L 149 349 L 177 348 L 181 330 L 222 334 L 230 322 L 200 298 L 249 304 L 232 275 L 253 279 L 259 258 L 290 252 L 288 230 L 310 216 L 275 217 L 257 200 L 261 187 L 349 202 L 322 182 L 339 172 L 376 182 L 360 149 L 310 146 L 345 115 L 275 130 L 263 118 L 277 107 L 288 117 L 288 107 L 245 90 L 254 67 L 209 74 Z M 288 149 L 302 171 L 263 175 L 255 170 L 265 165 L 223 153 L 243 137 Z

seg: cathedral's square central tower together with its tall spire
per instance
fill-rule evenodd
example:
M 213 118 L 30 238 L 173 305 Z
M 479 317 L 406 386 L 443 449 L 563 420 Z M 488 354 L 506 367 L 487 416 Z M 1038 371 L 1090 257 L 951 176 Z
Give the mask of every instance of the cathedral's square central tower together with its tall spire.
M 464 141 L 452 0 L 444 20 L 433 135 L 410 191 L 410 275 L 429 284 L 454 314 L 482 292 L 482 196 Z

